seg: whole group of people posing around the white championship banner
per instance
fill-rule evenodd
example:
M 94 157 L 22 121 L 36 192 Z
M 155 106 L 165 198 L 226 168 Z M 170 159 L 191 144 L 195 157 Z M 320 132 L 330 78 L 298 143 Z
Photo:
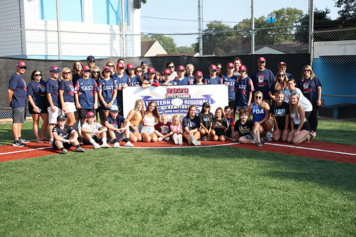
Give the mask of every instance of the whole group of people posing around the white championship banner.
M 126 141 L 125 146 L 133 146 L 132 143 L 136 141 L 150 142 L 170 137 L 176 144 L 182 144 L 184 137 L 189 144 L 200 145 L 199 139 L 222 141 L 227 136 L 241 143 L 252 142 L 262 146 L 264 140 L 260 139 L 259 134 L 264 131 L 268 140 L 281 139 L 294 144 L 312 140 L 317 135 L 321 83 L 311 67 L 303 67 L 299 88 L 296 88 L 294 76 L 286 73 L 286 63 L 278 64 L 277 74 L 265 68 L 266 60 L 263 57 L 257 63 L 258 69 L 252 73 L 251 78 L 241 59 L 235 58 L 227 64 L 226 74 L 222 73 L 221 64 L 212 64 L 209 67 L 209 76 L 203 79 L 200 71 L 193 75 L 192 64 L 180 65 L 175 71 L 174 63 L 168 62 L 162 77 L 153 67 L 148 66 L 147 61 L 142 61 L 140 66 L 135 67 L 132 63 L 125 66 L 124 60 L 119 59 L 117 64 L 106 62 L 101 69 L 95 65 L 95 58 L 88 56 L 86 65 L 77 60 L 73 62 L 72 69 L 63 68 L 60 77 L 60 69 L 52 66 L 51 77 L 47 81 L 42 79 L 41 70 L 35 69 L 31 74 L 31 82 L 26 86 L 23 74 L 27 66 L 24 61 L 19 61 L 8 88 L 8 105 L 12 107 L 13 116 L 13 146 L 23 147 L 29 142 L 21 136 L 26 99 L 33 118 L 37 143 L 49 141 L 50 144 L 56 144 L 58 126 L 63 124 L 63 117 L 66 120 L 64 125 L 71 128 L 66 128 L 66 132 L 69 132 L 68 141 L 73 141 L 71 137 L 79 137 L 83 143 L 85 141 L 93 144 L 95 148 L 100 148 L 100 139 L 103 141 L 101 147 L 109 147 L 106 136 L 103 135 L 106 133 L 115 147 L 123 139 Z M 149 103 L 144 110 L 144 103 L 137 101 L 127 118 L 122 117 L 122 89 L 127 86 L 147 88 L 201 84 L 228 85 L 227 107 L 224 110 L 218 108 L 215 115 L 212 115 L 210 106 L 203 106 L 202 112 L 196 115 L 196 107 L 191 105 L 183 120 L 174 115 L 170 123 L 167 115 L 160 116 L 157 104 Z M 240 119 L 234 123 L 236 111 L 239 111 Z M 100 126 L 96 123 L 97 115 L 100 117 Z M 43 120 L 41 132 L 39 118 Z M 92 123 L 95 123 L 95 129 L 100 132 L 88 129 L 88 123 L 91 129 Z M 121 123 L 124 123 L 123 128 L 120 127 Z M 50 138 L 45 135 L 47 128 Z M 118 136 L 117 133 L 121 135 Z M 64 141 L 63 144 L 65 143 L 68 142 Z M 69 144 L 80 148 L 79 144 Z M 55 147 L 64 148 L 58 147 L 58 144 Z

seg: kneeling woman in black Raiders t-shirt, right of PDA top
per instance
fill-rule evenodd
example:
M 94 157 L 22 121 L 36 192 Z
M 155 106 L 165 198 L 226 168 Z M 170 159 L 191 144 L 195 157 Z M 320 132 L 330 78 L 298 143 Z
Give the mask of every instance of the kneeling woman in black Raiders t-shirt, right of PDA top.
M 276 102 L 271 105 L 270 113 L 274 122 L 273 140 L 278 141 L 281 138 L 285 142 L 291 127 L 289 126 L 289 105 L 283 99 L 284 94 L 280 91 L 277 92 Z

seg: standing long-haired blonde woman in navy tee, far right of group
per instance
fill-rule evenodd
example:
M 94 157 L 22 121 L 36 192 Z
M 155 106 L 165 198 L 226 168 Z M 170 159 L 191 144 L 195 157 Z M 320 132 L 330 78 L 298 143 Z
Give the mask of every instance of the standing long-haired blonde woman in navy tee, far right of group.
M 313 105 L 313 110 L 311 110 L 308 117 L 311 129 L 310 139 L 317 136 L 318 111 L 321 105 L 321 86 L 319 78 L 313 73 L 313 69 L 309 65 L 305 65 L 302 70 L 302 78 L 299 80 L 299 88 L 301 88 L 303 95 Z

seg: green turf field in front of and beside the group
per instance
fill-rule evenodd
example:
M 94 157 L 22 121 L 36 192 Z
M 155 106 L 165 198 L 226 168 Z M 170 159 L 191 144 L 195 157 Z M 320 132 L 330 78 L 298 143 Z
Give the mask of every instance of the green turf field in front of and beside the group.
M 320 121 L 315 139 L 352 144 L 355 131 Z M 7 133 L 0 125 L 2 145 Z M 0 236 L 356 236 L 350 163 L 232 147 L 91 149 L 0 162 L 0 182 Z

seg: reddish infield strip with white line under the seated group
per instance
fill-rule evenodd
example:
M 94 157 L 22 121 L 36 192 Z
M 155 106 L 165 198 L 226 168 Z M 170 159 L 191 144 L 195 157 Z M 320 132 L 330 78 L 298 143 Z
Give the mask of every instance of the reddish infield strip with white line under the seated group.
M 303 143 L 300 145 L 275 143 L 274 141 L 266 141 L 263 147 L 257 147 L 252 144 L 238 144 L 234 140 L 228 139 L 225 142 L 221 141 L 202 141 L 202 146 L 189 146 L 184 142 L 182 146 L 173 144 L 172 141 L 158 141 L 157 143 L 135 143 L 136 148 L 179 148 L 189 147 L 199 149 L 199 147 L 209 146 L 229 146 L 234 148 L 244 148 L 250 150 L 260 150 L 266 152 L 274 152 L 279 154 L 289 154 L 302 157 L 311 157 L 316 159 L 325 159 L 338 162 L 348 162 L 356 164 L 356 147 L 350 145 L 342 145 L 335 143 L 323 143 L 321 141 L 312 141 L 311 143 Z M 120 143 L 124 146 L 124 142 Z M 82 146 L 84 149 L 94 149 L 93 146 Z M 118 149 L 122 149 L 121 147 Z M 16 159 L 26 159 L 32 157 L 46 156 L 59 154 L 60 151 L 55 151 L 49 144 L 28 143 L 27 147 L 13 147 L 11 145 L 0 147 L 0 162 Z M 72 147 L 70 152 L 74 151 Z M 100 149 L 98 150 L 100 152 Z

